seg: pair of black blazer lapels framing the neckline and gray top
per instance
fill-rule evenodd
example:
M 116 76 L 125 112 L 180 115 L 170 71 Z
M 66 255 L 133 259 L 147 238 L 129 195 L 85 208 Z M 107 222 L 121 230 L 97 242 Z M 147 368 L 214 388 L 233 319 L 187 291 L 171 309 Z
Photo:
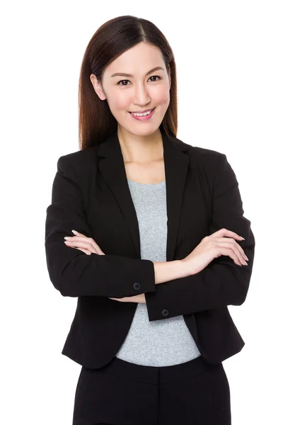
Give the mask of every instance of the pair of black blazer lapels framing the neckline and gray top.
M 166 261 L 173 261 L 175 244 L 180 223 L 180 215 L 185 189 L 185 179 L 190 162 L 190 156 L 185 154 L 190 145 L 185 144 L 177 137 L 167 136 L 161 130 L 163 140 L 163 157 L 166 174 L 166 202 L 167 202 L 167 247 Z M 117 203 L 125 216 L 127 226 L 132 234 L 135 250 L 140 259 L 140 237 L 137 213 L 129 191 L 124 159 L 117 137 L 117 130 L 112 133 L 97 148 L 100 161 L 100 174 L 112 191 Z

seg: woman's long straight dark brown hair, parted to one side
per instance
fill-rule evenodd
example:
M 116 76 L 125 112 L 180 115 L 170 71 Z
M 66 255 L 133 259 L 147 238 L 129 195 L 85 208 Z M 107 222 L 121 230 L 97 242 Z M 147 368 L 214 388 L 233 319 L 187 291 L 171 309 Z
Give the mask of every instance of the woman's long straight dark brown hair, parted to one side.
M 83 55 L 79 77 L 80 149 L 98 145 L 117 130 L 117 120 L 112 115 L 108 103 L 101 101 L 93 89 L 91 74 L 101 81 L 103 70 L 108 64 L 142 41 L 158 47 L 162 52 L 167 71 L 170 68 L 170 103 L 160 130 L 168 136 L 176 137 L 178 130 L 177 81 L 173 51 L 154 23 L 126 15 L 103 23 L 93 34 Z

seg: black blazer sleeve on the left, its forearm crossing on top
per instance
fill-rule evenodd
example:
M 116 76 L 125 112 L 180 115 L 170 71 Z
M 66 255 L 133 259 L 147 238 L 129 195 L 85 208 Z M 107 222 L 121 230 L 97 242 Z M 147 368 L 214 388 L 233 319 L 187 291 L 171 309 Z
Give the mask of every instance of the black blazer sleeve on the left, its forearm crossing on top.
M 156 290 L 154 263 L 117 255 L 87 255 L 66 246 L 72 229 L 91 236 L 83 196 L 66 156 L 57 161 L 52 203 L 46 210 L 45 253 L 54 288 L 64 296 L 125 297 Z M 136 285 L 134 285 L 136 283 Z

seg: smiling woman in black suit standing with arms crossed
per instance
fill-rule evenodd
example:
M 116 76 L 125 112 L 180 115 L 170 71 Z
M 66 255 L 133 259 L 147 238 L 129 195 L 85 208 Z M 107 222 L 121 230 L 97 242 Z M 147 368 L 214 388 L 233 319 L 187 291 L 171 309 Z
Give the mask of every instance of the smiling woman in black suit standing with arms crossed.
M 231 424 L 222 361 L 244 341 L 227 306 L 245 301 L 255 239 L 226 155 L 176 137 L 176 93 L 153 23 L 93 35 L 81 149 L 57 162 L 45 229 L 50 279 L 77 297 L 73 424 Z

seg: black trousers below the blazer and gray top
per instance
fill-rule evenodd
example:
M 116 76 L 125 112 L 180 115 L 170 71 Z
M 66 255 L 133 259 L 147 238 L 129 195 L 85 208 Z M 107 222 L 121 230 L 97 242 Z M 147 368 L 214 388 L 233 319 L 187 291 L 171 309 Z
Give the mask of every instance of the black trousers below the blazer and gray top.
M 170 366 L 113 358 L 82 366 L 73 425 L 231 425 L 229 381 L 222 363 L 199 356 Z

